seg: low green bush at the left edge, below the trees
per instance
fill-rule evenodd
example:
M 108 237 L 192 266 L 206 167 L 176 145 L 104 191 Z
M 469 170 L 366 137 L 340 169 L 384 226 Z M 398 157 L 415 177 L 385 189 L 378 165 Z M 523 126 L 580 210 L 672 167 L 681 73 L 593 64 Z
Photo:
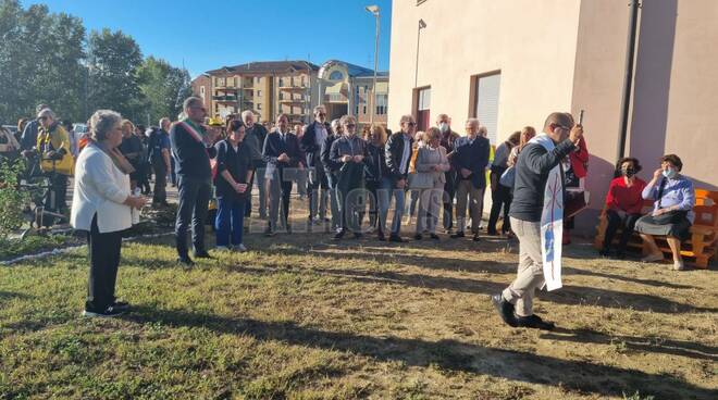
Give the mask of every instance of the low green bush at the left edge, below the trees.
M 28 196 L 15 186 L 23 168 L 22 160 L 0 162 L 0 240 L 23 223 L 23 207 Z

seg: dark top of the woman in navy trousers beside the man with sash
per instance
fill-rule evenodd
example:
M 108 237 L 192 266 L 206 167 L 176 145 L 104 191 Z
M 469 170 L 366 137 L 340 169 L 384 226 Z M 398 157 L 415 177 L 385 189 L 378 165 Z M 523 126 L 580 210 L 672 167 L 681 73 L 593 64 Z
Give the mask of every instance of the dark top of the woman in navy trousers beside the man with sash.
M 228 171 L 236 183 L 248 184 L 247 172 L 252 170 L 249 147 L 243 141 L 235 151 L 228 140 L 222 140 L 214 145 L 214 148 L 216 149 L 216 176 L 214 177 L 216 197 L 234 200 L 246 199 L 250 192 L 249 188 L 244 193 L 238 193 L 222 176 L 222 171 Z

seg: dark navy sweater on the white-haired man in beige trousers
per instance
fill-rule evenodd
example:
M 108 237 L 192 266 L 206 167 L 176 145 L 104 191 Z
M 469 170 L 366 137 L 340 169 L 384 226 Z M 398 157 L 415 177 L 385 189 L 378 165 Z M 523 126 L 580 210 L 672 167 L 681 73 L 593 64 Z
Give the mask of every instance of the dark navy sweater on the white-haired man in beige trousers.
M 463 179 L 461 168 L 467 168 L 471 171 L 468 179 L 471 179 L 473 187 L 476 189 L 485 188 L 490 152 L 491 145 L 488 139 L 483 136 L 476 136 L 473 143 L 466 136 L 457 139 L 451 157 L 451 165 L 456 170 L 457 183 Z

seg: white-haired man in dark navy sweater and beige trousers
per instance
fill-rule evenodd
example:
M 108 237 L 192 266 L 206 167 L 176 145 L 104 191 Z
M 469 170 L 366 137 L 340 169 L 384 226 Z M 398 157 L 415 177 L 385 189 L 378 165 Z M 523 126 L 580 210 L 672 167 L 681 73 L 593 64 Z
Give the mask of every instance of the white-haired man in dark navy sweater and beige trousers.
M 486 188 L 486 165 L 488 165 L 488 139 L 479 135 L 479 120 L 467 121 L 467 136 L 456 140 L 456 150 L 451 165 L 457 172 L 456 182 L 456 223 L 457 233 L 451 238 L 463 237 L 466 227 L 467 200 L 471 215 L 473 240 L 479 241 L 481 209 Z

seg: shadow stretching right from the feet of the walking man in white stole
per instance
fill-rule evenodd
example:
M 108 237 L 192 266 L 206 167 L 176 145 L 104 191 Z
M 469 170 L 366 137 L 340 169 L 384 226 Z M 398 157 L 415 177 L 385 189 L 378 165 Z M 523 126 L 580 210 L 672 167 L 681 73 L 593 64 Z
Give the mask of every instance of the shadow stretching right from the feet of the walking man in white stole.
M 565 328 L 556 328 L 550 333 L 542 334 L 541 338 L 580 343 L 626 346 L 627 349 L 634 351 L 682 355 L 692 359 L 718 362 L 718 347 L 701 345 L 694 341 L 640 336 L 616 336 L 606 335 L 591 329 Z

